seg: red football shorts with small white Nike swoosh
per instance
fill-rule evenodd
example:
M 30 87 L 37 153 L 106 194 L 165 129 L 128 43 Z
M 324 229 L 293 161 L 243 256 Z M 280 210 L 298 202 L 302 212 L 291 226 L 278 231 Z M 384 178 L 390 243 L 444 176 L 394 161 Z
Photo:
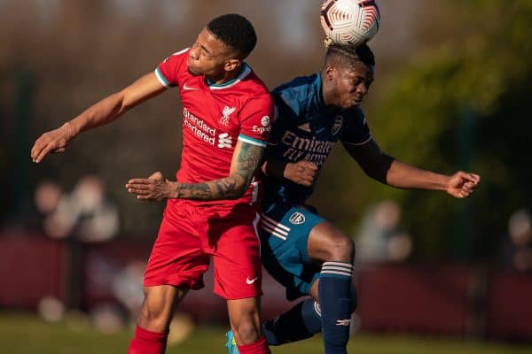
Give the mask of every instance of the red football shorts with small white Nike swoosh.
M 228 300 L 261 296 L 257 221 L 249 204 L 196 206 L 186 200 L 169 200 L 144 285 L 201 289 L 212 257 L 216 295 Z

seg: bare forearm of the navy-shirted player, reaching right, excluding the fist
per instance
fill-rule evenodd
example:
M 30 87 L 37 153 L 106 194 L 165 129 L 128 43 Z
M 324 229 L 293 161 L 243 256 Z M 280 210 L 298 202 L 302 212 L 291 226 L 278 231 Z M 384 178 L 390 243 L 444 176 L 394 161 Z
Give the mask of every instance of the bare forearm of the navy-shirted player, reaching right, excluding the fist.
M 422 170 L 402 161 L 394 160 L 386 174 L 386 183 L 399 189 L 447 189 L 450 176 Z

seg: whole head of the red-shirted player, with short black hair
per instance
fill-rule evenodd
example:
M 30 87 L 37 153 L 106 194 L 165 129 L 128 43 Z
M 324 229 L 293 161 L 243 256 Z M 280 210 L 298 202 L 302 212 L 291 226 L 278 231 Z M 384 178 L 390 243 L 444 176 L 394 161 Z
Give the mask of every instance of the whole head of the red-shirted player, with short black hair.
M 230 13 L 212 19 L 190 50 L 189 72 L 223 77 L 239 69 L 256 42 L 254 27 L 245 17 Z

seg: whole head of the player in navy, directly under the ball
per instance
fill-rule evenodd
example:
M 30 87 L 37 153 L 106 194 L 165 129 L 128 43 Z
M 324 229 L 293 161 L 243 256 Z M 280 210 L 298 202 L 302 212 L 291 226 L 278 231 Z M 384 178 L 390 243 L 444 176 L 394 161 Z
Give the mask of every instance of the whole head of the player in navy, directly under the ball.
M 330 45 L 322 73 L 325 104 L 344 109 L 360 104 L 373 81 L 374 67 L 375 58 L 366 44 Z

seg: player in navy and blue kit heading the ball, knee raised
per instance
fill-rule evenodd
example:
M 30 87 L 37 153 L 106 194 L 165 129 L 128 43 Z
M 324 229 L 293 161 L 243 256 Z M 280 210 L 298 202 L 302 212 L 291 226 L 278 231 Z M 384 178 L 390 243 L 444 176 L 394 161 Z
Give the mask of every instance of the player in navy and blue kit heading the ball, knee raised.
M 289 300 L 311 297 L 263 325 L 269 345 L 322 331 L 325 354 L 347 352 L 356 307 L 351 281 L 355 245 L 306 204 L 336 142 L 369 177 L 395 188 L 442 190 L 465 198 L 481 180 L 474 173 L 422 170 L 379 149 L 359 106 L 374 65 L 367 45 L 350 49 L 332 44 L 321 73 L 298 77 L 271 92 L 276 120 L 262 165 L 262 264 L 286 287 Z M 231 331 L 228 339 L 230 353 L 238 352 L 231 345 Z

